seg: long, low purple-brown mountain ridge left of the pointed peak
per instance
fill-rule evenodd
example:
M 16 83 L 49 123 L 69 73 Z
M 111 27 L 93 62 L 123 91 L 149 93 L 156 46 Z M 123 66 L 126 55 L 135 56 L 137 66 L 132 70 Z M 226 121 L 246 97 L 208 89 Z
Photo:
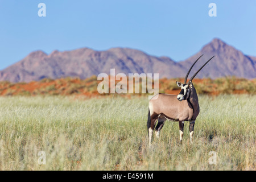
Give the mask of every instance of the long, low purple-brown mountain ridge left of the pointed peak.
M 155 57 L 130 48 L 94 51 L 81 48 L 73 51 L 42 51 L 30 53 L 23 60 L 0 72 L 0 80 L 29 82 L 42 78 L 80 77 L 99 73 L 159 73 L 162 77 L 182 77 L 184 67 L 168 57 Z M 170 72 L 173 70 L 172 72 Z

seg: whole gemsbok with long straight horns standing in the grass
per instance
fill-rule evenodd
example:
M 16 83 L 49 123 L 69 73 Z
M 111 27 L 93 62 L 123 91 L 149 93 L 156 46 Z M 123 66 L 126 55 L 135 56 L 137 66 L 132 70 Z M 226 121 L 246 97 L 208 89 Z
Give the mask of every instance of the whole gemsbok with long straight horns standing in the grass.
M 202 57 L 201 55 L 200 57 Z M 158 98 L 155 100 L 150 100 L 149 108 L 148 108 L 148 119 L 147 119 L 147 129 L 148 129 L 148 137 L 149 144 L 151 144 L 152 133 L 155 129 L 156 138 L 159 138 L 160 130 L 162 129 L 164 122 L 166 119 L 171 121 L 179 121 L 180 128 L 180 143 L 183 138 L 183 128 L 184 121 L 189 121 L 189 133 L 190 133 L 190 141 L 192 142 L 193 133 L 194 133 L 194 125 L 196 121 L 196 117 L 199 115 L 199 102 L 196 93 L 196 89 L 192 84 L 193 78 L 200 72 L 200 70 L 213 59 L 210 58 L 188 81 L 187 77 L 189 72 L 196 64 L 196 62 L 200 59 L 200 57 L 192 64 L 189 69 L 187 75 L 184 79 L 184 84 L 176 81 L 177 86 L 181 88 L 181 91 L 178 95 L 171 94 L 158 94 Z M 154 96 L 155 97 L 155 96 Z M 156 121 L 158 120 L 158 125 L 156 125 Z M 155 127 L 156 125 L 156 127 Z

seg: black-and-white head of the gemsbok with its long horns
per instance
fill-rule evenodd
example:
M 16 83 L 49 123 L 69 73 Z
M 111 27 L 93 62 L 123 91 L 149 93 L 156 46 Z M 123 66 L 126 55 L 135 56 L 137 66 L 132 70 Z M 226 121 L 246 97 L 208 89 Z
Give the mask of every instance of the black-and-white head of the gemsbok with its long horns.
M 200 57 L 202 57 L 202 56 L 203 56 L 203 55 L 201 55 Z M 184 84 L 181 84 L 181 82 L 176 81 L 177 86 L 179 86 L 179 87 L 181 88 L 179 95 L 177 95 L 177 100 L 183 101 L 183 100 L 187 100 L 187 99 L 189 98 L 189 94 L 190 94 L 191 89 L 192 89 L 192 87 L 193 87 L 193 84 L 192 84 L 193 78 L 195 78 L 195 76 L 197 75 L 197 73 L 199 73 L 200 70 L 201 70 L 202 68 L 204 68 L 204 66 L 205 66 L 211 59 L 213 59 L 214 56 L 213 56 L 212 58 L 210 58 L 210 59 L 209 59 L 209 60 L 208 60 L 208 61 L 207 61 L 207 62 L 189 79 L 189 81 L 187 82 L 187 78 L 188 78 L 188 75 L 189 75 L 191 69 L 192 69 L 193 66 L 196 64 L 196 62 L 200 59 L 200 57 L 195 61 L 195 63 L 192 64 L 191 68 L 189 69 L 187 75 L 185 76 Z

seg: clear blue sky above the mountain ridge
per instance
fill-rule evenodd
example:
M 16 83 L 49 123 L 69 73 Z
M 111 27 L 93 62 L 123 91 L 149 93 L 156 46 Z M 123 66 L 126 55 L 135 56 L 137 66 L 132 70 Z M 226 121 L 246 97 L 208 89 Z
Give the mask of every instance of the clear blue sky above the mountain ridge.
M 46 4 L 46 17 L 38 4 Z M 210 17 L 209 3 L 217 16 Z M 42 50 L 140 49 L 180 61 L 213 38 L 256 56 L 256 1 L 0 0 L 0 69 Z

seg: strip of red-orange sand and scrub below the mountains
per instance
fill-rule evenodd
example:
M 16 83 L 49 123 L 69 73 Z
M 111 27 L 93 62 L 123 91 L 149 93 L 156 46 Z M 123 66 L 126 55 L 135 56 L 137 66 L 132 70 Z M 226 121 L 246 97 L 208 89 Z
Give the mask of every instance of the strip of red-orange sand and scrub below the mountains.
M 183 78 L 162 78 L 159 80 L 159 92 L 168 94 L 178 94 L 180 89 L 176 81 L 183 81 Z M 110 94 L 99 94 L 97 91 L 98 83 L 96 76 L 80 80 L 80 78 L 60 78 L 51 80 L 45 78 L 41 81 L 31 81 L 28 83 L 0 82 L 1 96 L 36 96 L 36 95 L 76 95 L 76 96 L 100 96 Z M 115 81 L 117 84 L 119 81 Z M 128 83 L 128 81 L 127 81 Z M 225 77 L 212 80 L 210 78 L 195 78 L 193 84 L 199 94 L 255 94 L 256 80 L 246 80 L 244 78 Z M 133 94 L 122 94 L 131 97 Z M 138 94 L 136 94 L 138 95 Z M 139 94 L 142 95 L 142 94 Z

